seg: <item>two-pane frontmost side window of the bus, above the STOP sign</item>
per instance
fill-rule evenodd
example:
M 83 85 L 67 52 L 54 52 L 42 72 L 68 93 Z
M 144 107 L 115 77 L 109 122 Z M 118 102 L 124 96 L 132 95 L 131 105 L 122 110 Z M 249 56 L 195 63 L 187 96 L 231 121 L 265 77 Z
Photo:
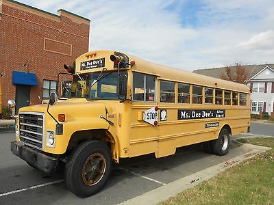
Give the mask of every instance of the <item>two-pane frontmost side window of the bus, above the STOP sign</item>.
M 155 102 L 156 77 L 138 72 L 133 73 L 133 100 Z

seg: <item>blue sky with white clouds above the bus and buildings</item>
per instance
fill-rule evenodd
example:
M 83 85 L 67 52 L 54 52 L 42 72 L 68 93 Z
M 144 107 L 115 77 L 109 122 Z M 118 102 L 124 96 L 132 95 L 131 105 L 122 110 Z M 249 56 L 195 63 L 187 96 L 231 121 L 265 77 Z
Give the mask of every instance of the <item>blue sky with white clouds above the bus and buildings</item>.
M 90 19 L 90 50 L 122 51 L 189 71 L 274 63 L 273 0 L 19 2 Z

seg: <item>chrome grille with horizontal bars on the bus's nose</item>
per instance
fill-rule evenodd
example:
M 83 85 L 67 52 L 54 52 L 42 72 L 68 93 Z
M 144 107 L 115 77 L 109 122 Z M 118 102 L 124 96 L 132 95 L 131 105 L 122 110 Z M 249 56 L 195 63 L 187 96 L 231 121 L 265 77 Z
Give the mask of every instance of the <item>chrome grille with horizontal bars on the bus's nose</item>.
M 43 113 L 20 113 L 19 120 L 20 141 L 23 141 L 26 146 L 42 150 L 45 115 Z

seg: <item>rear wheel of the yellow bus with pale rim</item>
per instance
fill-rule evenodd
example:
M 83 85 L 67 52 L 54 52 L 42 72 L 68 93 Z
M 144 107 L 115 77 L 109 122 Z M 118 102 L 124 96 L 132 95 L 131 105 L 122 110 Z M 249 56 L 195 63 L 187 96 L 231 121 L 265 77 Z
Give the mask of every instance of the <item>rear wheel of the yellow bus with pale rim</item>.
M 221 130 L 221 133 L 219 134 L 218 139 L 215 139 L 211 142 L 212 150 L 214 154 L 219 156 L 223 156 L 227 154 L 229 150 L 229 141 L 230 141 L 229 136 L 230 135 L 227 129 L 224 128 Z

